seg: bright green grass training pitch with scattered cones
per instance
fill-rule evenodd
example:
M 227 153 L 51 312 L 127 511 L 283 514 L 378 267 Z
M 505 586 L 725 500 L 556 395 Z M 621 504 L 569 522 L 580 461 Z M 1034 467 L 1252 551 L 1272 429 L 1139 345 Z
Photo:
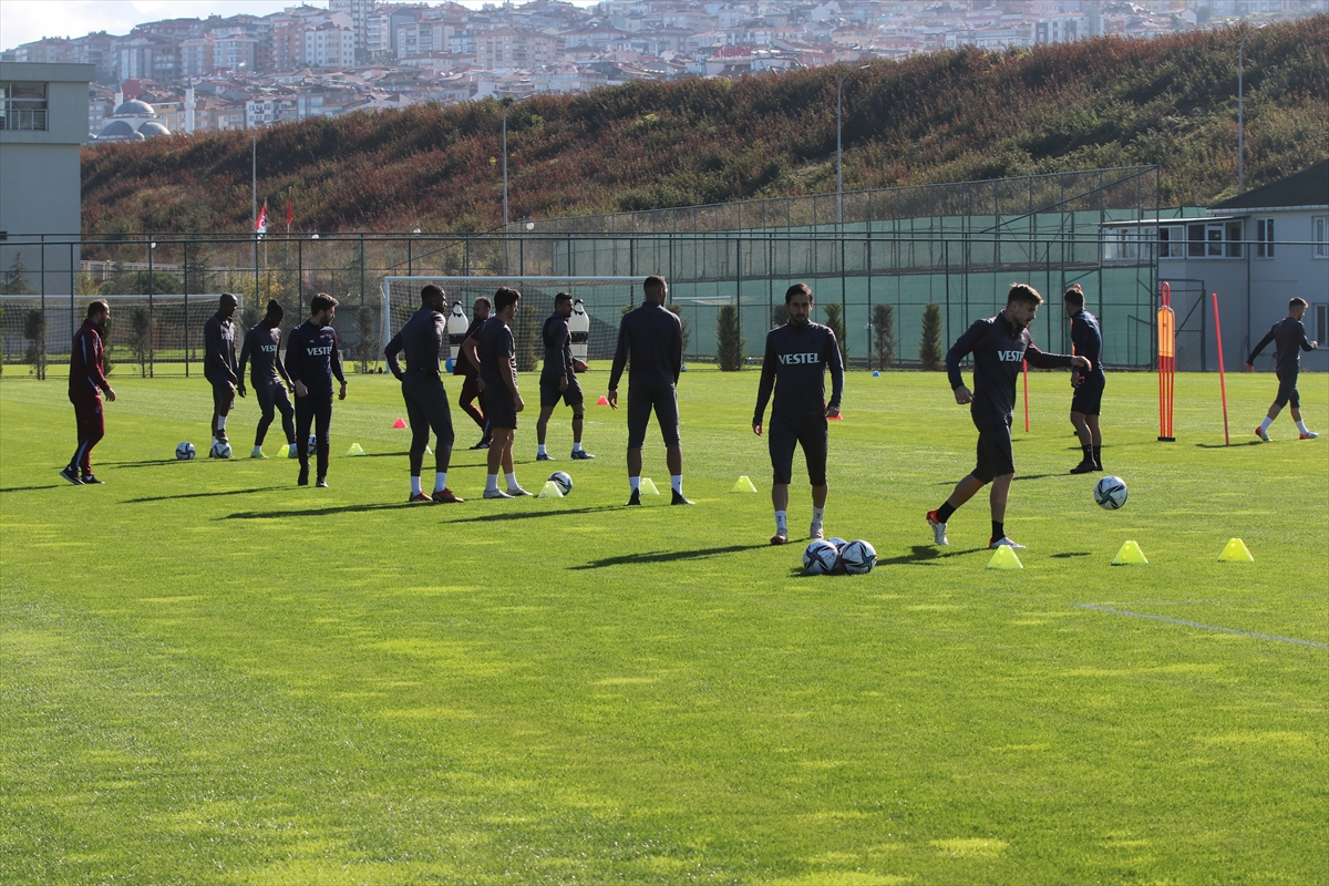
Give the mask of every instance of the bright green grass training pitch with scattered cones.
M 534 462 L 565 499 L 481 501 L 453 409 L 449 486 L 408 506 L 389 376 L 351 376 L 331 489 L 206 452 L 202 379 L 116 380 L 104 486 L 64 380 L 0 380 L 0 881 L 189 883 L 1329 882 L 1329 377 L 1316 441 L 1253 428 L 1272 375 L 1108 376 L 1104 511 L 1066 373 L 1033 373 L 1006 517 L 924 522 L 973 466 L 942 373 L 847 377 L 827 534 L 870 575 L 803 576 L 773 530 L 758 373 L 679 385 L 684 491 L 627 509 L 625 412 Z M 603 368 L 583 376 L 591 401 Z M 529 383 L 528 383 L 529 384 Z M 449 395 L 456 385 L 449 379 Z M 589 401 L 590 402 L 590 401 Z M 532 408 L 533 409 L 533 408 Z M 230 421 L 247 453 L 258 406 Z M 359 442 L 368 457 L 346 457 Z M 280 453 L 279 424 L 267 452 Z M 429 465 L 427 458 L 427 465 Z M 748 474 L 760 494 L 730 489 Z M 428 477 L 427 477 L 428 482 Z M 1220 563 L 1239 537 L 1255 563 Z M 1126 539 L 1147 566 L 1112 567 Z

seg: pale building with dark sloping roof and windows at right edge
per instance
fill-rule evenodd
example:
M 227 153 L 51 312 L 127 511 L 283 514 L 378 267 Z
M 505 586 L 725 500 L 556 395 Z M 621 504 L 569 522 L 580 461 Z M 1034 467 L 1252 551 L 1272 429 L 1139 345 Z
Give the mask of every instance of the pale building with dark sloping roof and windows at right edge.
M 1159 280 L 1172 290 L 1179 369 L 1217 369 L 1213 292 L 1229 372 L 1241 371 L 1294 296 L 1310 303 L 1306 336 L 1329 343 L 1329 161 L 1207 210 L 1114 222 L 1103 234 L 1108 263 L 1134 262 L 1142 251 L 1158 259 Z M 1256 368 L 1273 369 L 1272 351 Z M 1301 368 L 1329 369 L 1329 347 L 1304 352 Z

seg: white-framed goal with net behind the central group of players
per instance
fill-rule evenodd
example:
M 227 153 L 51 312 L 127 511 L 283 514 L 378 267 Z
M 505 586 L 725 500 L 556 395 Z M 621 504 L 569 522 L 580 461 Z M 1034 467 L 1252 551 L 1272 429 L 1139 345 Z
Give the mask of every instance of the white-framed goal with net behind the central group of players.
M 573 356 L 581 360 L 611 359 L 623 308 L 642 303 L 642 278 L 637 276 L 387 276 L 383 278 L 384 344 L 419 310 L 420 290 L 431 283 L 448 296 L 453 360 L 461 345 L 459 336 L 470 323 L 476 298 L 482 295 L 493 300 L 494 292 L 504 286 L 521 292 L 521 310 L 512 323 L 518 372 L 530 372 L 544 357 L 540 331 L 545 317 L 553 313 L 554 296 L 560 292 L 571 292 L 574 299 L 567 325 Z

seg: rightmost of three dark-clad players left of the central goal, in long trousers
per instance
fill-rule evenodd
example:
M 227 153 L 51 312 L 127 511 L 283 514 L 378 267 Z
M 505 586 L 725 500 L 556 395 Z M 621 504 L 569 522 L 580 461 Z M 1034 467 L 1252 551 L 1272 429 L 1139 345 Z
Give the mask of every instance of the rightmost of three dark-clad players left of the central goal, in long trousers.
M 332 424 L 332 376 L 342 383 L 338 400 L 346 400 L 346 375 L 332 317 L 338 300 L 326 292 L 310 299 L 310 319 L 291 329 L 286 341 L 286 375 L 295 385 L 295 440 L 300 457 L 300 486 L 310 485 L 310 424 L 318 434 L 318 486 L 327 486 L 328 425 Z

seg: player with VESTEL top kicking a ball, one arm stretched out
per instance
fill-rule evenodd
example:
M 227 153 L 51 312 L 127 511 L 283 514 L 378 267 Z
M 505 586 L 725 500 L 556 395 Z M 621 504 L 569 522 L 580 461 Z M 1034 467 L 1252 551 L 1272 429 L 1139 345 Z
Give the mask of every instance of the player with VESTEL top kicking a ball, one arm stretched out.
M 1015 379 L 1025 360 L 1039 369 L 1075 367 L 1090 372 L 1087 357 L 1069 353 L 1043 353 L 1034 347 L 1029 324 L 1038 316 L 1043 296 L 1027 283 L 1017 283 L 1006 295 L 1006 310 L 986 320 L 974 320 L 965 335 L 946 352 L 946 372 L 956 402 L 969 404 L 969 414 L 978 428 L 978 464 L 956 485 L 956 491 L 937 510 L 928 511 L 928 525 L 938 545 L 946 541 L 946 521 L 961 505 L 987 484 L 991 490 L 993 535 L 989 547 L 1017 547 L 1006 535 L 1006 499 L 1015 477 L 1010 446 L 1010 424 L 1015 410 Z M 960 375 L 960 361 L 974 355 L 974 391 L 969 392 Z

